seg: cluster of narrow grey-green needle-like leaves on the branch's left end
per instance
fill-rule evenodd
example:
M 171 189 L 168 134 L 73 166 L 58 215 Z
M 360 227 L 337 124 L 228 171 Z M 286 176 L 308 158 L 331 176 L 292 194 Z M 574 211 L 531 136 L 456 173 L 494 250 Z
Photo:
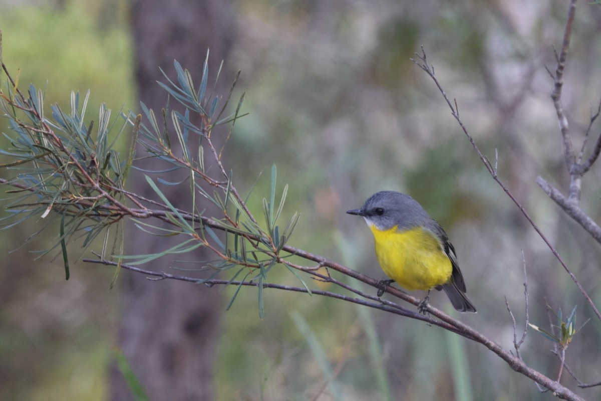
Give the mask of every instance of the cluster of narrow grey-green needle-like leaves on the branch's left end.
M 227 114 L 237 77 L 225 100 L 216 95 L 216 82 L 212 87 L 207 83 L 208 57 L 207 53 L 198 87 L 189 71 L 177 61 L 174 62 L 177 79 L 172 80 L 163 72 L 165 82 L 159 82 L 159 85 L 169 99 L 175 99 L 183 106 L 183 112 L 169 109 L 168 103 L 160 112 L 160 121 L 153 109 L 141 103 L 145 118 L 131 111 L 127 114 L 121 111 L 122 120 L 118 125 L 118 120 L 111 120 L 111 111 L 105 106 L 100 108 L 98 123 L 85 122 L 89 91 L 82 99 L 79 93 L 72 93 L 69 111 L 52 105 L 50 115 L 46 115 L 44 91 L 30 85 L 23 94 L 18 76 L 13 80 L 3 66 L 8 82 L 0 94 L 2 117 L 7 118 L 10 127 L 3 135 L 11 145 L 8 150 L 0 149 L 0 153 L 11 161 L 0 165 L 10 172 L 10 176 L 0 182 L 13 187 L 8 192 L 16 194 L 7 203 L 9 213 L 3 218 L 3 228 L 31 218 L 47 219 L 35 233 L 38 234 L 46 227 L 55 227 L 50 223 L 58 219 L 59 234 L 53 246 L 43 254 L 60 245 L 67 278 L 67 244 L 73 236 L 83 233 L 85 251 L 100 233 L 104 233 L 102 251 L 96 254 L 101 260 L 116 259 L 119 263 L 128 260 L 129 265 L 192 253 L 201 247 L 210 249 L 214 259 L 199 260 L 198 264 L 212 273 L 208 278 L 199 279 L 198 283 L 237 267 L 230 281 L 243 277 L 242 281 L 258 283 L 260 316 L 263 316 L 263 284 L 271 269 L 280 263 L 310 292 L 292 265 L 285 263 L 289 254 L 282 249 L 290 239 L 299 215 L 294 213 L 283 228 L 278 225 L 288 186 L 284 186 L 276 201 L 275 165 L 271 171 L 269 195 L 263 198 L 264 223 L 260 223 L 246 206 L 250 194 L 245 198 L 239 194 L 234 186 L 233 172 L 227 171 L 222 164 L 223 148 L 218 150 L 213 143 L 213 129 L 222 124 L 233 127 L 237 118 L 242 117 L 240 108 L 244 94 L 235 111 Z M 220 72 L 221 67 L 218 77 Z M 117 133 L 113 134 L 115 131 Z M 130 133 L 130 149 L 122 156 L 115 150 L 115 143 L 124 132 Z M 231 128 L 227 138 L 230 135 Z M 222 142 L 227 142 L 227 138 Z M 141 158 L 136 156 L 136 144 L 145 151 Z M 167 167 L 160 170 L 138 167 L 137 162 L 145 158 L 160 161 Z M 144 173 L 156 198 L 142 198 L 124 189 L 132 168 Z M 176 170 L 185 171 L 185 179 L 172 182 L 161 177 Z M 188 186 L 191 206 L 187 210 L 175 207 L 160 189 L 160 186 L 179 185 Z M 209 205 L 212 205 L 211 210 L 218 210 L 217 215 L 205 216 Z M 176 245 L 152 254 L 126 255 L 123 253 L 123 220 L 126 217 L 132 218 L 144 233 L 182 239 Z M 162 224 L 149 222 L 151 218 Z M 116 234 L 111 239 L 108 228 L 115 223 L 118 223 Z M 216 233 L 216 229 L 221 233 Z M 236 295 L 237 291 L 230 305 Z

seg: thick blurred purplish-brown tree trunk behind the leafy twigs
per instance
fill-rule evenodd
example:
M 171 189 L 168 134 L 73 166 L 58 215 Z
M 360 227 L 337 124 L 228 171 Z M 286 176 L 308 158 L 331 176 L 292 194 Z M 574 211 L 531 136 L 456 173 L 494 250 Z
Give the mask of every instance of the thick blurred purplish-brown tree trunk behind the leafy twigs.
M 166 91 L 156 83 L 165 80 L 159 67 L 175 80 L 175 59 L 200 82 L 207 48 L 210 48 L 211 82 L 234 40 L 235 19 L 227 1 L 136 0 L 131 16 L 139 98 L 155 110 L 157 117 L 167 102 Z M 216 93 L 227 95 L 231 80 L 228 81 L 228 75 L 224 74 L 220 81 Z M 169 107 L 174 106 L 177 106 L 176 102 L 171 100 Z M 191 148 L 194 147 L 191 144 Z M 137 156 L 142 154 L 139 149 Z M 156 160 L 147 159 L 138 165 L 157 170 L 160 167 L 156 163 Z M 169 179 L 174 180 L 172 176 Z M 141 174 L 132 171 L 130 182 L 133 182 L 132 191 L 156 198 Z M 177 206 L 190 209 L 188 188 L 183 183 L 162 190 Z M 130 227 L 126 240 L 130 254 L 155 253 L 176 243 L 135 230 Z M 175 237 L 174 241 L 181 239 Z M 185 258 L 163 258 L 145 268 L 166 271 L 174 265 L 172 259 Z M 210 255 L 204 254 L 204 249 L 188 256 L 188 260 L 206 259 L 210 259 Z M 183 267 L 200 268 L 200 263 Z M 153 400 L 214 399 L 213 361 L 223 308 L 218 290 L 177 281 L 150 281 L 131 272 L 121 272 L 119 280 L 122 310 L 118 344 L 148 396 Z M 118 401 L 132 399 L 115 367 L 111 370 L 111 398 Z

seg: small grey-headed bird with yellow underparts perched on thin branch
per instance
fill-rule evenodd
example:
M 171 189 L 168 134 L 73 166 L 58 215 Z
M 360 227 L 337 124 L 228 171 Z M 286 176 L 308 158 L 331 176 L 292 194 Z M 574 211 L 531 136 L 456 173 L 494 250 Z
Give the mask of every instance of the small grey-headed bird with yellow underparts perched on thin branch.
M 401 192 L 380 191 L 360 209 L 347 210 L 362 216 L 374 235 L 376 257 L 391 280 L 383 280 L 378 295 L 393 281 L 407 290 L 428 290 L 420 303 L 425 313 L 432 288 L 444 290 L 453 307 L 474 312 L 453 244 L 441 225 L 412 197 Z

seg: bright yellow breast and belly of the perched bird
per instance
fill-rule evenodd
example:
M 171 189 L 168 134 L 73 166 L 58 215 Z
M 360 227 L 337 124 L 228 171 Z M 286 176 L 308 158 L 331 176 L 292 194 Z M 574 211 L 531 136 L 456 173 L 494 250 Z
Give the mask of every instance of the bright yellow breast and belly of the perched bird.
M 422 228 L 381 231 L 370 225 L 384 273 L 407 290 L 429 290 L 448 283 L 453 265 L 435 234 Z

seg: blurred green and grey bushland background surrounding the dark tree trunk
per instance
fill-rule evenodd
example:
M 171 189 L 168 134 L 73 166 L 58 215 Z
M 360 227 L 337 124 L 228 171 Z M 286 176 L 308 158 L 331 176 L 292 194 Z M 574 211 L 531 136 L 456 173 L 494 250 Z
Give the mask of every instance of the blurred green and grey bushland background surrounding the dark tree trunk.
M 191 20 L 209 26 L 210 34 L 227 34 L 227 46 L 218 49 L 210 40 L 201 42 L 212 47 L 213 63 L 224 59 L 224 95 L 242 70 L 234 94 L 246 91 L 243 112 L 249 115 L 237 121 L 226 158 L 242 194 L 263 172 L 250 201 L 257 213 L 269 191 L 271 166 L 277 165 L 279 189 L 290 186 L 284 218 L 301 213 L 291 245 L 384 278 L 371 233 L 344 211 L 383 189 L 406 192 L 454 243 L 468 296 L 478 308 L 477 314 L 459 316 L 463 322 L 513 349 L 504 297 L 521 330 L 523 251 L 530 322 L 548 327 L 546 305 L 564 313 L 577 306 L 581 325 L 592 316 L 581 293 L 487 174 L 435 84 L 410 61 L 424 46 L 481 150 L 491 160 L 498 152 L 502 181 L 601 305 L 599 244 L 535 184 L 535 177 L 542 176 L 558 188 L 567 185 L 549 97 L 552 80 L 545 70 L 555 68 L 553 46 L 561 46 L 565 1 L 200 3 L 208 4 L 210 13 L 189 10 L 186 1 L 160 2 L 155 14 L 167 15 L 172 23 L 171 31 L 160 31 L 162 25 L 136 2 L 1 0 L 3 61 L 13 75 L 20 70 L 23 86 L 46 87 L 46 104 L 68 108 L 70 91 L 90 89 L 89 115 L 97 115 L 105 102 L 117 116 L 123 105 L 139 110 L 138 96 L 146 102 L 145 90 L 157 87 L 151 79 L 144 81 L 144 69 L 159 79 L 158 67 L 169 71 L 177 58 L 200 79 L 202 64 L 190 57 L 204 60 L 207 45 L 186 45 L 189 32 L 178 27 Z M 585 2 L 578 7 L 563 96 L 576 149 L 601 96 L 601 8 Z M 144 55 L 142 44 L 154 31 L 171 37 L 172 44 L 168 51 Z M 214 77 L 216 68 L 211 71 Z M 5 121 L 0 124 L 5 131 Z M 592 141 L 598 132 L 597 124 Z M 585 155 L 590 151 L 589 145 Z M 597 165 L 585 176 L 582 194 L 582 208 L 597 221 L 600 171 Z M 121 347 L 117 338 L 124 332 L 128 295 L 109 290 L 112 269 L 82 262 L 72 266 L 65 281 L 60 258 L 36 259 L 34 253 L 55 233 L 29 241 L 36 222 L 31 223 L 0 232 L 0 399 L 129 399 L 111 390 L 109 373 L 115 347 Z M 71 251 L 73 257 L 81 253 L 76 246 Z M 275 272 L 270 280 L 298 284 L 290 276 Z M 166 284 L 149 285 L 160 294 Z M 233 291 L 211 289 L 216 301 L 203 304 L 219 315 L 211 326 L 214 340 L 207 360 L 213 375 L 205 383 L 211 388 L 205 399 L 552 398 L 484 347 L 442 329 L 275 290 L 266 290 L 260 319 L 256 289 L 242 289 L 225 311 Z M 454 313 L 444 295 L 433 294 L 431 302 Z M 147 318 L 160 322 L 160 313 L 151 311 Z M 593 318 L 567 349 L 567 364 L 581 381 L 601 379 L 600 338 Z M 138 343 L 143 350 L 144 342 Z M 551 349 L 549 340 L 530 331 L 522 355 L 529 366 L 555 378 L 559 363 Z M 144 363 L 131 362 L 152 397 Z M 566 372 L 562 382 L 576 388 Z M 175 387 L 168 390 L 177 393 Z M 601 395 L 599 387 L 575 391 L 587 399 Z

